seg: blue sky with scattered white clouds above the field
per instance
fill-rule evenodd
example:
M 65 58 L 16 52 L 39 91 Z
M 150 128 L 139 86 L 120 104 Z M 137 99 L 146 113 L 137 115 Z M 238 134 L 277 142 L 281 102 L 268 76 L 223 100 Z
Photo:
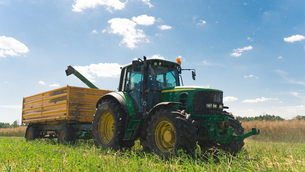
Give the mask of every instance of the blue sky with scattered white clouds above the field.
M 117 90 L 120 66 L 143 56 L 196 69 L 184 85 L 224 91 L 239 116 L 305 115 L 303 1 L 0 0 L 0 122 L 22 99 L 70 86 Z

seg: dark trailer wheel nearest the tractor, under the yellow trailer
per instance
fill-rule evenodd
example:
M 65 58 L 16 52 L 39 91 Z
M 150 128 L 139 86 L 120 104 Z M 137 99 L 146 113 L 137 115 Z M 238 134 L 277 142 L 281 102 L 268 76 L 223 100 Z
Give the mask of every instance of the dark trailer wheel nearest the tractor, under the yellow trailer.
M 75 141 L 75 129 L 71 125 L 63 125 L 57 134 L 57 143 L 73 144 Z

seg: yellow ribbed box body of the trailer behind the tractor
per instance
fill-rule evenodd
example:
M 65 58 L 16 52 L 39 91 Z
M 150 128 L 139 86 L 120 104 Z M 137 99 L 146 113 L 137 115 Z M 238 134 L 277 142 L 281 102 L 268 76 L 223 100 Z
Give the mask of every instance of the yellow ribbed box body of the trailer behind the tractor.
M 92 122 L 95 104 L 106 93 L 108 90 L 66 86 L 24 97 L 22 123 Z

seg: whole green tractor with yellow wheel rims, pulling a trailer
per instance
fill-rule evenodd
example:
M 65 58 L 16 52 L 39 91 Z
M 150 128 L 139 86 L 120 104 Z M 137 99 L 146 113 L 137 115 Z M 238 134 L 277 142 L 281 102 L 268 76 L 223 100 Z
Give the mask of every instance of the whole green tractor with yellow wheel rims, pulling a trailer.
M 131 148 L 140 140 L 144 150 L 168 157 L 182 149 L 213 146 L 231 154 L 243 140 L 260 133 L 244 134 L 241 122 L 224 111 L 223 91 L 204 86 L 183 86 L 180 60 L 138 59 L 121 68 L 117 92 L 99 99 L 92 123 L 98 147 Z M 182 86 L 181 86 L 182 85 Z

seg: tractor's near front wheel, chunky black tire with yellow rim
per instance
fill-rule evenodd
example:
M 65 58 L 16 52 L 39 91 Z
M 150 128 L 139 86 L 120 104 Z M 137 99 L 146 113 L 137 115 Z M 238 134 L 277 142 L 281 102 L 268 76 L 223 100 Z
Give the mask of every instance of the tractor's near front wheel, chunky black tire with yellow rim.
M 197 148 L 198 136 L 197 128 L 192 122 L 190 115 L 184 111 L 176 109 L 157 111 L 152 115 L 147 128 L 146 140 L 150 152 L 165 158 L 177 155 L 180 149 L 186 154 L 193 153 Z

